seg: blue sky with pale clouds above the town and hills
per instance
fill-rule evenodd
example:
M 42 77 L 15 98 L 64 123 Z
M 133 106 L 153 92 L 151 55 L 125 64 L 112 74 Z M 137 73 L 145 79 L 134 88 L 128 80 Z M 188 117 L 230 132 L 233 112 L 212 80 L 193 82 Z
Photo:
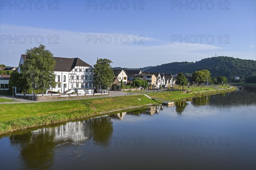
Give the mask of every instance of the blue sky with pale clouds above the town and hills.
M 20 55 L 40 43 L 55 57 L 79 57 L 90 65 L 108 58 L 113 67 L 195 62 L 215 54 L 256 59 L 255 0 L 0 0 L 0 5 L 0 63 L 9 66 L 18 66 Z

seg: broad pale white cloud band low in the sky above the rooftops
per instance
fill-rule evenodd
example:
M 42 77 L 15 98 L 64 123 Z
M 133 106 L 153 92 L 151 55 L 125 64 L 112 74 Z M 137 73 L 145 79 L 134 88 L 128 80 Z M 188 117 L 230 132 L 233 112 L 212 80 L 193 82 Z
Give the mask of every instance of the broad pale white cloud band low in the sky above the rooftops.
M 95 64 L 97 57 L 108 58 L 113 61 L 113 66 L 138 68 L 151 65 L 160 65 L 175 61 L 196 61 L 207 57 L 226 55 L 241 57 L 245 54 L 251 58 L 255 56 L 253 52 L 226 51 L 218 46 L 204 44 L 186 43 L 165 43 L 154 37 L 134 37 L 128 34 L 107 34 L 107 33 L 87 33 L 65 30 L 52 30 L 44 28 L 31 28 L 24 26 L 0 25 L 1 30 L 1 63 L 17 66 L 20 55 L 26 49 L 38 46 L 37 41 L 43 37 L 43 44 L 52 51 L 55 57 L 79 57 L 90 65 Z M 17 38 L 9 42 L 11 38 Z M 6 36 L 8 37 L 7 40 Z M 88 38 L 101 38 L 100 40 L 90 40 Z M 123 36 L 123 40 L 120 38 Z M 26 37 L 26 41 L 24 40 Z M 29 39 L 31 37 L 31 39 Z M 35 37 L 38 39 L 36 40 Z M 112 41 L 109 42 L 109 38 Z M 125 44 L 125 38 L 128 42 Z M 117 38 L 117 39 L 115 39 Z M 29 42 L 31 40 L 31 42 Z M 115 42 L 116 40 L 116 42 Z M 134 43 L 135 40 L 135 43 Z M 139 44 L 142 40 L 144 44 Z M 24 42 L 25 43 L 22 43 Z M 57 43 L 58 42 L 58 43 Z M 162 43 L 162 44 L 161 44 Z M 154 44 L 154 45 L 152 45 Z M 12 51 L 9 53 L 9 51 Z M 254 55 L 253 55 L 254 54 Z M 247 58 L 247 59 L 248 59 Z

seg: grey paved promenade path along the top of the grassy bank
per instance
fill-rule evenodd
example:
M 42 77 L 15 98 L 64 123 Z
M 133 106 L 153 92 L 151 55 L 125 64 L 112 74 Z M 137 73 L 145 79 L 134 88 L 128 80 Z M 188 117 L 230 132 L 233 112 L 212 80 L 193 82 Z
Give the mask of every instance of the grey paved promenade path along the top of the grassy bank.
M 95 99 L 95 98 L 105 98 L 105 97 L 116 97 L 116 96 L 126 96 L 130 93 L 121 92 L 121 91 L 111 91 L 108 96 L 97 96 L 97 97 L 84 97 L 84 98 L 71 98 L 71 99 L 55 99 L 55 100 L 44 100 L 44 101 L 32 101 L 27 99 L 21 99 L 15 97 L 15 101 L 18 102 L 0 102 L 0 104 L 9 104 L 9 103 L 37 103 L 37 102 L 56 102 L 56 101 L 66 101 L 66 100 L 83 100 L 83 99 Z M 0 96 L 3 99 L 10 99 L 12 100 L 12 96 Z

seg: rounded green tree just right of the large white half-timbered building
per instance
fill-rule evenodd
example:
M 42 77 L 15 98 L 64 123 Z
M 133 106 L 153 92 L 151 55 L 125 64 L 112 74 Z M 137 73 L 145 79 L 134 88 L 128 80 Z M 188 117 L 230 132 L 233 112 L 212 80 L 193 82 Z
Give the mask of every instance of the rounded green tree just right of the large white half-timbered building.
M 108 89 L 113 84 L 114 72 L 111 69 L 112 61 L 109 59 L 98 59 L 94 67 L 94 82 L 96 88 Z

